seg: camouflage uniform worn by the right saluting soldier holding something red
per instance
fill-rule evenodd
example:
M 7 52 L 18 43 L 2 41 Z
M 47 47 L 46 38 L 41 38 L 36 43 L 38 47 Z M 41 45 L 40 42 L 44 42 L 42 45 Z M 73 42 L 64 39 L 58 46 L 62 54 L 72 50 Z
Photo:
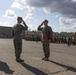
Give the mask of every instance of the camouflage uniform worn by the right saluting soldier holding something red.
M 44 28 L 41 28 L 41 26 L 39 26 L 38 30 L 42 31 L 42 46 L 44 55 L 45 57 L 49 57 L 50 55 L 49 45 L 50 45 L 50 39 L 52 37 L 52 28 L 49 27 L 48 25 L 45 26 Z M 49 39 L 47 39 L 48 36 L 50 36 Z

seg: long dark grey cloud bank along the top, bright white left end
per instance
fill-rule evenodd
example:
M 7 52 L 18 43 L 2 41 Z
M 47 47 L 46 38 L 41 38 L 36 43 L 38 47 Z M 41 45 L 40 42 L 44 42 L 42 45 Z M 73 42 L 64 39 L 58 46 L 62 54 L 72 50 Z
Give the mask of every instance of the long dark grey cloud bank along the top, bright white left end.
M 44 12 L 60 13 L 64 17 L 76 18 L 76 0 L 15 0 L 12 7 L 26 8 L 26 6 L 43 8 Z

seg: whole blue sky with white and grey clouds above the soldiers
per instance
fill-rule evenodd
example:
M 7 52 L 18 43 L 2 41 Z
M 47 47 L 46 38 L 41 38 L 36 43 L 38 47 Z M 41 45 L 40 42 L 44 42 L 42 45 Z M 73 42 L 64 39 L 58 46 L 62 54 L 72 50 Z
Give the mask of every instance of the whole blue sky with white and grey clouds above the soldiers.
M 47 19 L 54 32 L 76 32 L 76 0 L 0 1 L 0 26 L 14 26 L 18 16 L 31 30 Z

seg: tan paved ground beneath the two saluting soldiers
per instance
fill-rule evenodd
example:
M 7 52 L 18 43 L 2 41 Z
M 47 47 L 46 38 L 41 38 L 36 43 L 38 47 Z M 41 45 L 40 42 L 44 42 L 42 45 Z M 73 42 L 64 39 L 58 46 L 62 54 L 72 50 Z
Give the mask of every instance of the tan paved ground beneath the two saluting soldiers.
M 76 75 L 76 45 L 50 43 L 50 60 L 44 56 L 41 42 L 23 40 L 21 58 L 15 61 L 13 39 L 0 39 L 0 75 Z

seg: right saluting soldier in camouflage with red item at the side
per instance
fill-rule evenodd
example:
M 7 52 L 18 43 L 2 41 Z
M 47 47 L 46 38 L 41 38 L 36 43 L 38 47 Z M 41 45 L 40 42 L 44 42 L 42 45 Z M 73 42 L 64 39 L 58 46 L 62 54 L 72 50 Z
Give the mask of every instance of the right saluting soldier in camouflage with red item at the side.
M 44 24 L 45 27 L 42 27 Z M 39 25 L 38 30 L 42 31 L 42 46 L 44 51 L 44 58 L 42 60 L 48 61 L 50 56 L 50 40 L 52 39 L 52 28 L 48 26 L 48 20 L 45 20 Z

